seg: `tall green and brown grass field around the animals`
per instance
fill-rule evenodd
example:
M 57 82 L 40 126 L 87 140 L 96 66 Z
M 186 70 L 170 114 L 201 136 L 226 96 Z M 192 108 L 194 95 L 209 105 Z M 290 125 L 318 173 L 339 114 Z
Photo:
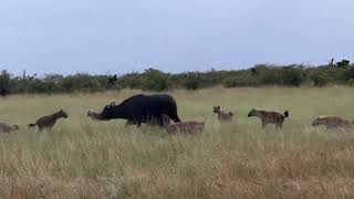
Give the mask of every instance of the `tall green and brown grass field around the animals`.
M 10 96 L 0 122 L 20 132 L 0 135 L 1 198 L 351 198 L 354 130 L 311 127 L 319 115 L 354 118 L 354 88 L 211 88 L 170 93 L 181 119 L 206 121 L 200 135 L 94 122 L 86 109 L 139 93 Z M 236 113 L 221 125 L 220 105 Z M 290 111 L 283 129 L 261 129 L 252 107 Z M 28 128 L 63 108 L 52 130 Z

